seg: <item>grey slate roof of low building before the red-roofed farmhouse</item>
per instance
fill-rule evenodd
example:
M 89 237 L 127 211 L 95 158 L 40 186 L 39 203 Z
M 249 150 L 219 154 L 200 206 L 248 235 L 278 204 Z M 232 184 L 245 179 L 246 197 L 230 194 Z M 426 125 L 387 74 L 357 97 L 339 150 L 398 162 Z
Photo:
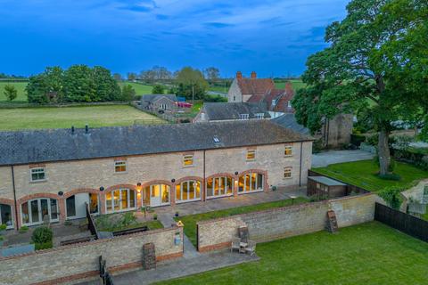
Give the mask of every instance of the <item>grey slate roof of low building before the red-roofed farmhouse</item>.
M 249 114 L 249 118 L 256 118 L 258 113 L 263 113 L 265 118 L 270 118 L 263 103 L 207 102 L 203 104 L 203 111 L 210 120 L 239 119 L 240 114 Z

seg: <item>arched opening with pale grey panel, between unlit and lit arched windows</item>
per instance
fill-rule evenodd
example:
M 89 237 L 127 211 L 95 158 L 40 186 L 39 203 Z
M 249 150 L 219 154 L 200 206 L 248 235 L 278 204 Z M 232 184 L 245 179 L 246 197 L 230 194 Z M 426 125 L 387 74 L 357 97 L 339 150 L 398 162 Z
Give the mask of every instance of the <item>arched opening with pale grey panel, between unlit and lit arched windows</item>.
M 78 193 L 65 199 L 65 210 L 68 219 L 86 217 L 86 203 L 91 214 L 99 214 L 99 198 L 95 193 Z

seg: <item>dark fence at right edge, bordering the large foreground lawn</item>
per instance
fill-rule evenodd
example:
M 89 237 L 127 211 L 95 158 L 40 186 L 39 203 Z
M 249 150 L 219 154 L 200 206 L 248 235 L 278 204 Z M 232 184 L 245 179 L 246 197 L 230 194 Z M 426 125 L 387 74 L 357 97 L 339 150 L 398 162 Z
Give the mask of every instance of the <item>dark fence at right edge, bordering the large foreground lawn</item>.
M 376 203 L 374 220 L 388 224 L 400 232 L 428 242 L 428 222 L 416 216 L 411 216 L 393 208 Z

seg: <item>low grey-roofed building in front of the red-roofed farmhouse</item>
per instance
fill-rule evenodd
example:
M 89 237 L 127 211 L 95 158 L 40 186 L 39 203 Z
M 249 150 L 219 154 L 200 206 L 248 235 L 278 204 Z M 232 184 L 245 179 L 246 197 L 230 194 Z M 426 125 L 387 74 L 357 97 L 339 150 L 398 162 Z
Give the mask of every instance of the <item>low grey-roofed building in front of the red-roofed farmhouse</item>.
M 264 103 L 250 102 L 206 102 L 198 115 L 193 119 L 195 123 L 218 122 L 238 119 L 267 119 L 269 112 Z

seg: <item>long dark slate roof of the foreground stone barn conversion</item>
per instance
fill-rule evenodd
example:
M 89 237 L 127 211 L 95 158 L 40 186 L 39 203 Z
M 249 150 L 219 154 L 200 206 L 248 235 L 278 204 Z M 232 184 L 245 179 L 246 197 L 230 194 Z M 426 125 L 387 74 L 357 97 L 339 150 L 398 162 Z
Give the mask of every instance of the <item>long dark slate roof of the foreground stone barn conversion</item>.
M 220 143 L 213 140 L 217 136 Z M 311 140 L 270 120 L 0 132 L 0 165 L 198 151 Z

